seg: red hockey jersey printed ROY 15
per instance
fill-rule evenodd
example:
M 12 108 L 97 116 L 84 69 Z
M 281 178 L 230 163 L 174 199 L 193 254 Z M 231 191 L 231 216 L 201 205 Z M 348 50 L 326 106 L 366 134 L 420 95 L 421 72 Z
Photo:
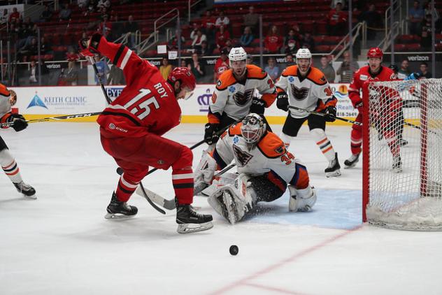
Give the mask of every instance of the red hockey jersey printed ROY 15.
M 120 136 L 162 135 L 180 124 L 181 109 L 173 89 L 156 66 L 143 60 L 122 44 L 101 38 L 98 50 L 123 70 L 127 86 L 97 122 L 101 128 Z

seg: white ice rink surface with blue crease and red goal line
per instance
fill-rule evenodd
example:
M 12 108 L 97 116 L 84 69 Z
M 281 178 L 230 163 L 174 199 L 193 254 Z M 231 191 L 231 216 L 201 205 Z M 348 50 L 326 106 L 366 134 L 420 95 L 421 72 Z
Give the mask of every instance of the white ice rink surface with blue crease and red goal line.
M 343 166 L 350 127 L 327 133 Z M 182 124 L 166 137 L 190 146 L 202 135 L 201 124 Z M 288 213 L 286 193 L 231 226 L 197 196 L 214 227 L 187 235 L 176 232 L 175 211 L 161 215 L 135 194 L 134 219 L 104 219 L 118 175 L 97 124 L 38 123 L 1 136 L 38 196 L 22 198 L 0 173 L 1 295 L 442 294 L 442 233 L 362 225 L 362 163 L 325 178 L 327 161 L 306 126 L 290 151 L 318 189 L 313 212 Z M 143 184 L 173 196 L 171 171 Z

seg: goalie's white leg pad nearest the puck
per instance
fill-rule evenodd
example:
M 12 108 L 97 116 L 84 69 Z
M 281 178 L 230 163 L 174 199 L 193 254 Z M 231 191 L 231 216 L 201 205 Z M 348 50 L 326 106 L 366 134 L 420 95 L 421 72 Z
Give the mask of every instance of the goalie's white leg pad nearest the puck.
M 208 197 L 208 203 L 212 208 L 231 224 L 242 220 L 245 213 L 252 210 L 256 204 L 255 192 L 250 187 L 249 179 L 250 176 L 241 174 L 233 185 L 218 187 Z

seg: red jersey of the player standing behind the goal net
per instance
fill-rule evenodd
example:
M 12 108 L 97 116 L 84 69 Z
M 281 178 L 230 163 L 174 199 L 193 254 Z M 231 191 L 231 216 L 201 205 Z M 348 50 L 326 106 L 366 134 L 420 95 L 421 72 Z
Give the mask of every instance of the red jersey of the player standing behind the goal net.
M 363 66 L 361 69 L 357 70 L 353 75 L 352 82 L 348 87 L 348 97 L 352 101 L 353 106 L 359 103 L 361 99 L 361 90 L 364 82 L 368 80 L 373 81 L 391 81 L 394 80 L 396 76 L 392 69 L 386 66 L 380 66 L 380 71 L 376 74 L 371 73 L 369 66 Z

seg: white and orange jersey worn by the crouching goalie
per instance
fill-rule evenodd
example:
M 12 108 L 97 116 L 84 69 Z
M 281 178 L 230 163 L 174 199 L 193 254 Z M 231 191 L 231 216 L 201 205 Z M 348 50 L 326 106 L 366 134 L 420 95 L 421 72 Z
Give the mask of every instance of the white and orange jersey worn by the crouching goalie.
M 276 173 L 287 183 L 296 182 L 297 173 L 294 156 L 285 149 L 283 141 L 276 134 L 267 132 L 257 145 L 249 150 L 248 143 L 241 136 L 241 125 L 232 125 L 218 141 L 213 158 L 218 164 L 229 164 L 235 160 L 238 173 L 251 176 L 269 171 Z

